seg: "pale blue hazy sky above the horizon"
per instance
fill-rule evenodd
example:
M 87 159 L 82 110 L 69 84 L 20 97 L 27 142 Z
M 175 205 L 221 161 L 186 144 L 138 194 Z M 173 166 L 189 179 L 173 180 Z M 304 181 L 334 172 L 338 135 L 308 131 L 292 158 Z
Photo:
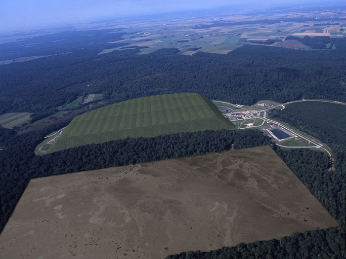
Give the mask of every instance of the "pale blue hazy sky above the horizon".
M 0 0 L 0 31 L 226 5 L 259 8 L 309 2 L 316 0 Z

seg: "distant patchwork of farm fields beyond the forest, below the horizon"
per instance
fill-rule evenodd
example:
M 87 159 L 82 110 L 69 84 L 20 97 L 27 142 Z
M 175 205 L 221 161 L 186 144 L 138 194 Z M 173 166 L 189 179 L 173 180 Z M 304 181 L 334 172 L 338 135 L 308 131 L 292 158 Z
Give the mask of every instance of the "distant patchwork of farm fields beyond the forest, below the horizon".
M 178 48 L 180 50 L 179 54 L 183 55 L 193 55 L 199 51 L 227 54 L 244 44 L 256 44 L 246 42 L 247 40 L 265 41 L 268 39 L 282 40 L 282 42 L 275 42 L 271 46 L 309 49 L 308 46 L 297 40 L 285 42 L 285 38 L 288 36 L 304 37 L 306 35 L 341 38 L 346 35 L 345 31 L 342 30 L 342 22 L 340 22 L 340 25 L 329 27 L 316 20 L 325 15 L 333 16 L 334 14 L 328 11 L 323 14 L 297 11 L 284 14 L 267 13 L 265 15 L 266 20 L 263 19 L 262 14 L 251 17 L 245 15 L 220 16 L 219 19 L 203 17 L 183 20 L 170 19 L 166 21 L 158 20 L 151 23 L 150 27 L 145 26 L 143 23 L 131 23 L 124 29 L 127 35 L 124 35 L 123 39 L 111 42 L 127 43 L 126 48 L 120 46 L 104 49 L 100 54 L 114 50 L 122 51 L 128 47 L 138 48 L 143 46 L 147 48 L 140 48 L 139 54 L 150 54 L 163 47 Z M 258 21 L 258 23 L 255 21 Z

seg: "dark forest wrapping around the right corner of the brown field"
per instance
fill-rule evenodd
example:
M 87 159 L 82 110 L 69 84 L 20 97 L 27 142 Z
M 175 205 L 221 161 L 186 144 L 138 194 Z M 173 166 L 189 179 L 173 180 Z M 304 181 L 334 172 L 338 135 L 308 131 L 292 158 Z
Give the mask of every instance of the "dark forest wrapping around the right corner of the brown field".
M 345 174 L 329 171 L 328 155 L 307 148 L 282 150 L 274 146 L 295 174 L 340 222 L 339 227 L 292 233 L 289 237 L 241 243 L 201 252 L 188 251 L 167 259 L 345 258 Z

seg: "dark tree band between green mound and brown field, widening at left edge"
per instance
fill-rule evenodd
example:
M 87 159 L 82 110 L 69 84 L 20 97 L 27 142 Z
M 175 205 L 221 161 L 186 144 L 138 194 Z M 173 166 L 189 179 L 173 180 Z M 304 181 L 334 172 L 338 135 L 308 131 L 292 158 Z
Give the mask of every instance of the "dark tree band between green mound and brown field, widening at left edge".
M 1 228 L 28 181 L 35 177 L 220 152 L 230 149 L 233 144 L 234 148 L 270 144 L 269 139 L 257 130 L 220 130 L 176 133 L 155 138 L 127 138 L 35 156 L 34 150 L 43 137 L 68 123 L 64 121 L 41 131 L 21 135 L 0 128 L 0 136 L 4 136 L 0 138 L 0 146 L 3 147 L 0 150 Z

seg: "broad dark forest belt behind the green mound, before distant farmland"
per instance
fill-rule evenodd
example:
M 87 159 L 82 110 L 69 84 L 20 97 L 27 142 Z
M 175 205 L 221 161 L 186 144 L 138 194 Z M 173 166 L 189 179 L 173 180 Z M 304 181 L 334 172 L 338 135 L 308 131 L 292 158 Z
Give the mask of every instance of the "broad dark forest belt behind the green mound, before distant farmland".
M 0 66 L 0 113 L 40 113 L 84 93 L 102 93 L 109 103 L 182 92 L 243 105 L 263 99 L 346 99 L 340 84 L 346 81 L 346 47 L 316 52 L 245 45 L 227 55 L 193 56 L 176 55 L 175 48 L 149 55 L 138 51 L 98 55 L 80 49 Z

